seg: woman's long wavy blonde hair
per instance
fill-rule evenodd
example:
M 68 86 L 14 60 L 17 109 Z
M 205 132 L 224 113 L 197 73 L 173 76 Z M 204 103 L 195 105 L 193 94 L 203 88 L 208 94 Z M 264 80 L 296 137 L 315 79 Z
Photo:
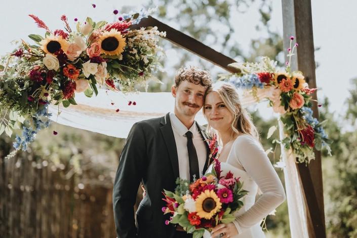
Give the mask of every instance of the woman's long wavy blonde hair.
M 233 121 L 231 124 L 232 138 L 240 133 L 243 133 L 251 135 L 257 141 L 260 141 L 259 132 L 252 121 L 252 116 L 245 108 L 242 107 L 239 94 L 235 88 L 228 83 L 216 83 L 212 86 L 212 88 L 207 90 L 205 94 L 205 101 L 207 95 L 211 92 L 217 92 L 219 94 L 224 105 L 233 115 Z M 203 107 L 203 113 L 206 117 L 205 112 L 205 107 Z M 210 126 L 208 126 L 208 130 L 210 131 Z

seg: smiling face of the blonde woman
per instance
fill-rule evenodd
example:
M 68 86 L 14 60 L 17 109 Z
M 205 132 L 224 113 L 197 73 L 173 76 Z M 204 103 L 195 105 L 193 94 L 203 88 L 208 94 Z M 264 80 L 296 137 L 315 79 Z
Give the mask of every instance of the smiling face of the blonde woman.
M 230 130 L 233 115 L 217 92 L 210 92 L 205 100 L 205 115 L 208 124 L 218 132 Z

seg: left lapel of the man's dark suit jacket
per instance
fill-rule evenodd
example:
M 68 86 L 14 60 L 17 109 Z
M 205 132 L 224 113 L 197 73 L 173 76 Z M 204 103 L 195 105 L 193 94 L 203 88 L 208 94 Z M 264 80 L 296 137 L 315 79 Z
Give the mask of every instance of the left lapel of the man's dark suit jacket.
M 172 170 L 174 171 L 175 178 L 178 178 L 180 177 L 178 156 L 177 156 L 177 148 L 176 148 L 174 132 L 172 131 L 172 126 L 170 121 L 170 113 L 167 113 L 166 116 L 162 117 L 161 124 L 163 126 L 160 129 L 161 129 L 161 133 L 163 134 L 166 148 L 170 156 Z

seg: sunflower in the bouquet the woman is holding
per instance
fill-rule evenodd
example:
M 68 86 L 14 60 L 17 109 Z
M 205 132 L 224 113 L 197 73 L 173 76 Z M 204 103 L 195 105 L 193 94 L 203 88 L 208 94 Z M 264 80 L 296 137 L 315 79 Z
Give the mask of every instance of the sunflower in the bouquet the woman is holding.
M 213 190 L 205 190 L 196 198 L 196 211 L 201 218 L 211 219 L 221 208 L 222 203 Z

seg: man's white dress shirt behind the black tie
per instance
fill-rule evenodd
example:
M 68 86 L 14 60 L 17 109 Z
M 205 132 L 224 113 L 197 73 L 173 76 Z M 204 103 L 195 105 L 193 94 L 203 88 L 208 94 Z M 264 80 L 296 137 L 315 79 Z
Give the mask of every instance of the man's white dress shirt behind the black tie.
M 188 151 L 187 151 L 187 137 L 186 132 L 192 132 L 192 141 L 196 149 L 197 158 L 199 159 L 200 175 L 203 173 L 207 158 L 207 147 L 199 129 L 196 126 L 196 122 L 187 130 L 186 126 L 179 120 L 179 118 L 174 114 L 170 113 L 171 127 L 174 132 L 177 156 L 179 161 L 179 174 L 181 179 L 189 180 L 190 170 L 188 162 Z

